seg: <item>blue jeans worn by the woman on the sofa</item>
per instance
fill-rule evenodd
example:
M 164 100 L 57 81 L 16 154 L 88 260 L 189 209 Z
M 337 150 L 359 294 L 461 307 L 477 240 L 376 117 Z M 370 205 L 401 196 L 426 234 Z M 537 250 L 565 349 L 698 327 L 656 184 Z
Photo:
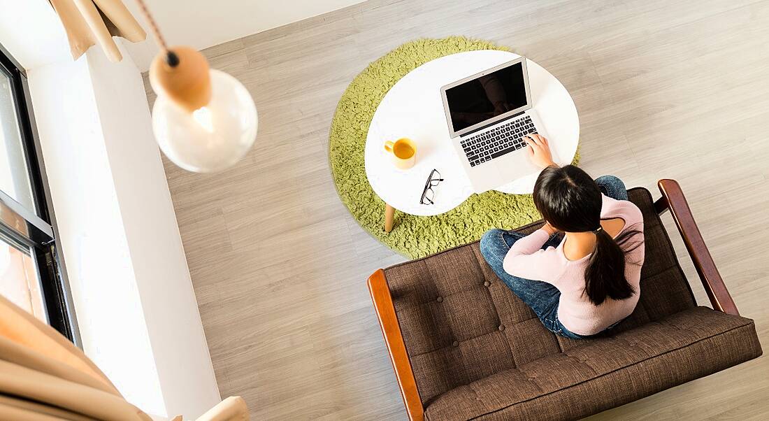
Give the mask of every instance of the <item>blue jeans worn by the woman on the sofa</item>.
M 601 188 L 601 192 L 604 193 L 604 195 L 608 195 L 612 199 L 628 200 L 628 190 L 625 189 L 622 180 L 614 175 L 598 177 L 595 182 L 598 183 L 598 187 Z M 502 267 L 504 256 L 508 254 L 513 243 L 523 237 L 525 237 L 525 235 L 520 232 L 506 231 L 504 229 L 491 229 L 481 238 L 481 254 L 502 282 L 504 282 L 504 284 L 507 285 L 508 288 L 521 299 L 521 301 L 534 310 L 534 314 L 537 315 L 538 319 L 540 319 L 546 329 L 556 335 L 571 339 L 584 339 L 590 337 L 570 332 L 561 321 L 558 320 L 558 300 L 561 299 L 561 291 L 558 291 L 558 288 L 548 282 L 519 278 L 518 276 L 512 276 L 508 272 L 504 272 L 504 268 Z M 561 234 L 554 234 L 544 243 L 542 249 L 547 249 L 550 246 L 558 247 L 562 238 Z M 609 329 L 611 329 L 611 327 L 613 326 L 610 326 Z

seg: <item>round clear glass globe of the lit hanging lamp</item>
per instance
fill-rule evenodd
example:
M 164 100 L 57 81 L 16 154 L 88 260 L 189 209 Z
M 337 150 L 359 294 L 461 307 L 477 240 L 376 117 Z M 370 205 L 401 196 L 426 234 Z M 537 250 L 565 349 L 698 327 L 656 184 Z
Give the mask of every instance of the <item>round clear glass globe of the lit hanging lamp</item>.
M 191 172 L 215 172 L 238 162 L 254 144 L 256 105 L 248 89 L 225 72 L 209 70 L 211 100 L 192 112 L 158 95 L 152 130 L 161 151 Z

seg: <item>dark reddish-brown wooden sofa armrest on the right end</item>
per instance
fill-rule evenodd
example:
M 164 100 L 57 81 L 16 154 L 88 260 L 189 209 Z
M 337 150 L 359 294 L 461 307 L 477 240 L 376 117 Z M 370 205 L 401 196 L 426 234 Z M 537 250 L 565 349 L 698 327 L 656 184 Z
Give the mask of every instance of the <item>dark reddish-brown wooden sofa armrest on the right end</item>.
M 705 246 L 700 229 L 697 228 L 697 222 L 691 215 L 691 209 L 689 209 L 689 204 L 684 197 L 684 192 L 681 191 L 681 185 L 678 185 L 675 180 L 661 179 L 657 182 L 657 187 L 659 187 L 662 197 L 654 202 L 654 208 L 660 214 L 670 209 L 678 232 L 681 232 L 691 261 L 694 262 L 697 275 L 700 276 L 702 286 L 704 286 L 713 308 L 739 316 L 737 306 L 734 305 L 734 300 L 731 299 L 729 291 L 724 285 L 724 279 L 721 279 L 721 274 L 718 273 L 713 257 Z

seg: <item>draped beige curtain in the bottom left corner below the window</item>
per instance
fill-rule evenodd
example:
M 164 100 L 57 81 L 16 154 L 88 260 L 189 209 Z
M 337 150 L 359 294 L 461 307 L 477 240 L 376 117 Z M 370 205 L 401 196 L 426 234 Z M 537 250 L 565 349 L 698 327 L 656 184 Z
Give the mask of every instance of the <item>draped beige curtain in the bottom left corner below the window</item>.
M 3 296 L 0 419 L 152 420 L 72 342 Z M 199 420 L 245 421 L 248 407 L 239 396 L 231 397 Z

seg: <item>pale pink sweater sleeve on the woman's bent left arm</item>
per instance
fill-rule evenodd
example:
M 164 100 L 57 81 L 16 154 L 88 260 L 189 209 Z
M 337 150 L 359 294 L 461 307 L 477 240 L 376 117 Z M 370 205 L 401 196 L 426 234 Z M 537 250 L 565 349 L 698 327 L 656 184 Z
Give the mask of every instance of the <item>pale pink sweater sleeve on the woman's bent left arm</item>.
M 514 242 L 507 255 L 504 256 L 502 267 L 504 272 L 524 279 L 534 279 L 551 284 L 558 281 L 561 270 L 554 265 L 555 249 L 542 249 L 550 235 L 544 229 L 538 229 L 530 235 Z M 562 268 L 561 268 L 562 269 Z M 555 273 L 558 272 L 558 273 Z

